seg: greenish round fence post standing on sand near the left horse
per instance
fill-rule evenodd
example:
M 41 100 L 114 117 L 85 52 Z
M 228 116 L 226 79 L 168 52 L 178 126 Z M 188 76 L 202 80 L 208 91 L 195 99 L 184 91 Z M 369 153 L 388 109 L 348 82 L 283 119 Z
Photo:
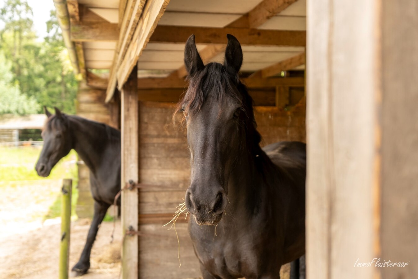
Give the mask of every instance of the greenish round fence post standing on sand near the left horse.
M 59 246 L 59 279 L 68 279 L 71 225 L 72 180 L 62 180 L 61 196 L 61 243 Z

